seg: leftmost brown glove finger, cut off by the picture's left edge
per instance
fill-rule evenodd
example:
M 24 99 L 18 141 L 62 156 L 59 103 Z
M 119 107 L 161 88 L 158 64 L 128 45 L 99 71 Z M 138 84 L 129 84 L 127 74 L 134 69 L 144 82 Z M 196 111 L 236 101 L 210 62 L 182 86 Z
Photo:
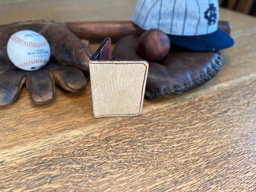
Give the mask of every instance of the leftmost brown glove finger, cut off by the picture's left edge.
M 6 70 L 2 72 L 0 76 L 0 106 L 14 103 L 25 81 L 25 71 Z

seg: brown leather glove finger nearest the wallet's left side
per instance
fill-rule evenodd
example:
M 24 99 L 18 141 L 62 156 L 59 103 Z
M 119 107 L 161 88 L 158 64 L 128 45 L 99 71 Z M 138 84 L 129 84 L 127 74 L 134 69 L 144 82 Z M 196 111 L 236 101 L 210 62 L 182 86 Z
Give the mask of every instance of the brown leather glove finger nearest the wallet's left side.
M 78 92 L 87 84 L 84 73 L 71 66 L 55 68 L 50 71 L 50 76 L 54 79 L 55 84 L 70 92 Z

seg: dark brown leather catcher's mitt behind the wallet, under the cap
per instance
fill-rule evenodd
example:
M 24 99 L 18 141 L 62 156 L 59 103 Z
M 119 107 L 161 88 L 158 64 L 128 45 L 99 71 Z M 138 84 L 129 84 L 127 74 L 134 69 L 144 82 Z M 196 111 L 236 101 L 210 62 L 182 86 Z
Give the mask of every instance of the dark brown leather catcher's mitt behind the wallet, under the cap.
M 130 35 L 120 39 L 113 50 L 113 59 L 143 59 L 137 54 L 138 37 Z M 148 61 L 145 97 L 182 94 L 201 86 L 218 73 L 222 60 L 219 52 L 192 52 L 172 46 L 160 62 Z

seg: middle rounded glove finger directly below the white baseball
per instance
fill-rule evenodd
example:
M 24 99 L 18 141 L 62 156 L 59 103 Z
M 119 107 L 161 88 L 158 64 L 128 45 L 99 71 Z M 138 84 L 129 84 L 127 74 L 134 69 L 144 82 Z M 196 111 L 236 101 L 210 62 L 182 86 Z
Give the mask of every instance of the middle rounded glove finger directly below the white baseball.
M 26 87 L 30 99 L 37 104 L 50 102 L 55 95 L 55 84 L 47 70 L 33 71 L 28 75 Z

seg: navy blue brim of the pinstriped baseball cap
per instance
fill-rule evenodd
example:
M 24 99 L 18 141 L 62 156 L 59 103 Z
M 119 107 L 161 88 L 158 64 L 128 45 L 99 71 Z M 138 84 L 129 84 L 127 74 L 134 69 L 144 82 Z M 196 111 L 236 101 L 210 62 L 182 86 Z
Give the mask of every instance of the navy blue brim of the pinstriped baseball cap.
M 170 42 L 190 50 L 216 51 L 234 45 L 234 40 L 224 31 L 218 29 L 214 33 L 200 36 L 177 36 L 169 34 Z

